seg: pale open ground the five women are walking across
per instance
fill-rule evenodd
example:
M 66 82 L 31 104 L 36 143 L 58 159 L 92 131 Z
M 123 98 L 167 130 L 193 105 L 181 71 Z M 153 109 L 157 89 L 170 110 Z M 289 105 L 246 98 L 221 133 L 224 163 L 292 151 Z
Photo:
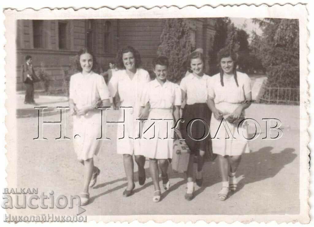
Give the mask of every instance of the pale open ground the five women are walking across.
M 38 103 L 40 103 L 37 100 Z M 67 106 L 65 100 L 55 100 L 41 106 Z M 19 131 L 18 143 L 18 187 L 38 188 L 39 193 L 54 195 L 75 195 L 81 192 L 83 166 L 77 162 L 72 141 L 57 141 L 59 126 L 45 126 L 48 140 L 33 140 L 37 136 L 37 111 L 24 106 L 17 111 Z M 46 116 L 46 115 L 45 115 Z M 113 111 L 116 116 L 116 111 Z M 262 126 L 259 138 L 250 142 L 251 153 L 243 155 L 238 170 L 238 190 L 226 201 L 219 201 L 217 193 L 221 180 L 217 162 L 204 165 L 203 187 L 195 186 L 195 198 L 186 201 L 186 181 L 183 174 L 169 176 L 171 188 L 162 190 L 160 203 L 152 201 L 154 187 L 146 162 L 147 180 L 144 186 L 137 182 L 135 165 L 135 193 L 122 197 L 127 183 L 122 156 L 116 154 L 116 126 L 111 126 L 108 137 L 95 165 L 100 170 L 96 186 L 90 190 L 91 203 L 84 207 L 84 215 L 151 215 L 151 214 L 297 214 L 299 213 L 299 106 L 252 104 L 246 111 L 248 118 L 254 118 Z M 282 122 L 283 137 L 279 140 L 262 140 L 265 137 L 265 122 L 262 118 L 278 118 Z M 48 111 L 45 121 L 57 121 L 56 111 Z M 72 135 L 72 117 L 66 115 L 67 134 Z M 252 130 L 252 128 L 251 128 Z M 251 132 L 251 131 L 250 131 Z M 68 136 L 67 135 L 67 136 Z M 27 212 L 28 209 L 21 212 Z M 34 209 L 35 214 L 76 213 L 75 209 Z

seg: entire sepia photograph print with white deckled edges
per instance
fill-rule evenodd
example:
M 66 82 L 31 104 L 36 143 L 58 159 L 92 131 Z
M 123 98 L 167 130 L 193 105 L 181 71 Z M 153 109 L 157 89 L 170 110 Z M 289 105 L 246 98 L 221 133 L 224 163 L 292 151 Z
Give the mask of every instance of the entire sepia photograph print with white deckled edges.
M 310 221 L 303 5 L 27 10 L 5 12 L 5 222 Z

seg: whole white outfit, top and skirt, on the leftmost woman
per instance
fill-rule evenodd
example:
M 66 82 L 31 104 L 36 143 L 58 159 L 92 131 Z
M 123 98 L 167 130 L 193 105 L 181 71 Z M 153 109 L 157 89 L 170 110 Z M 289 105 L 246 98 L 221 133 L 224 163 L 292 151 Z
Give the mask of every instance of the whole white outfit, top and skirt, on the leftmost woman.
M 78 109 L 91 106 L 97 100 L 109 99 L 105 80 L 97 73 L 76 73 L 70 79 L 70 96 Z M 89 111 L 83 116 L 73 116 L 73 145 L 78 160 L 87 160 L 97 155 L 103 140 L 101 136 L 101 111 Z M 74 138 L 75 137 L 75 138 Z

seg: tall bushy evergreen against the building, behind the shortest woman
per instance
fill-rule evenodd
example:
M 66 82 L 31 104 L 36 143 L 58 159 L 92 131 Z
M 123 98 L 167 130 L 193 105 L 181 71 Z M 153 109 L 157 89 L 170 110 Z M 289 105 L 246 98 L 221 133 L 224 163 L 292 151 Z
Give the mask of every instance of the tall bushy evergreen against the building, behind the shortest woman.
M 157 54 L 168 57 L 171 62 L 168 68 L 170 81 L 180 81 L 187 70 L 185 62 L 194 48 L 190 35 L 187 19 L 165 19 Z

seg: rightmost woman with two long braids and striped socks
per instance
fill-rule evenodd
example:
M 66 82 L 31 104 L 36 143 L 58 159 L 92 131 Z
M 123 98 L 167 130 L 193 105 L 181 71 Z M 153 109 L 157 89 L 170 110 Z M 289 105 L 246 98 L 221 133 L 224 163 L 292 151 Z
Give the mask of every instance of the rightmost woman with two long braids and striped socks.
M 252 92 L 248 75 L 236 70 L 237 57 L 234 52 L 228 48 L 221 49 L 218 52 L 218 61 L 220 73 L 211 77 L 208 87 L 208 107 L 213 112 L 210 131 L 212 134 L 216 133 L 215 137 L 220 138 L 212 140 L 213 153 L 218 154 L 222 178 L 222 188 L 218 197 L 219 200 L 225 200 L 229 190 L 236 191 L 236 170 L 241 155 L 250 152 L 248 141 L 243 138 L 249 138 L 247 125 L 241 123 L 241 120 L 245 118 L 244 110 L 251 105 Z M 229 135 L 224 127 L 219 128 L 223 118 L 232 135 Z M 243 137 L 235 136 L 239 128 L 242 129 Z

